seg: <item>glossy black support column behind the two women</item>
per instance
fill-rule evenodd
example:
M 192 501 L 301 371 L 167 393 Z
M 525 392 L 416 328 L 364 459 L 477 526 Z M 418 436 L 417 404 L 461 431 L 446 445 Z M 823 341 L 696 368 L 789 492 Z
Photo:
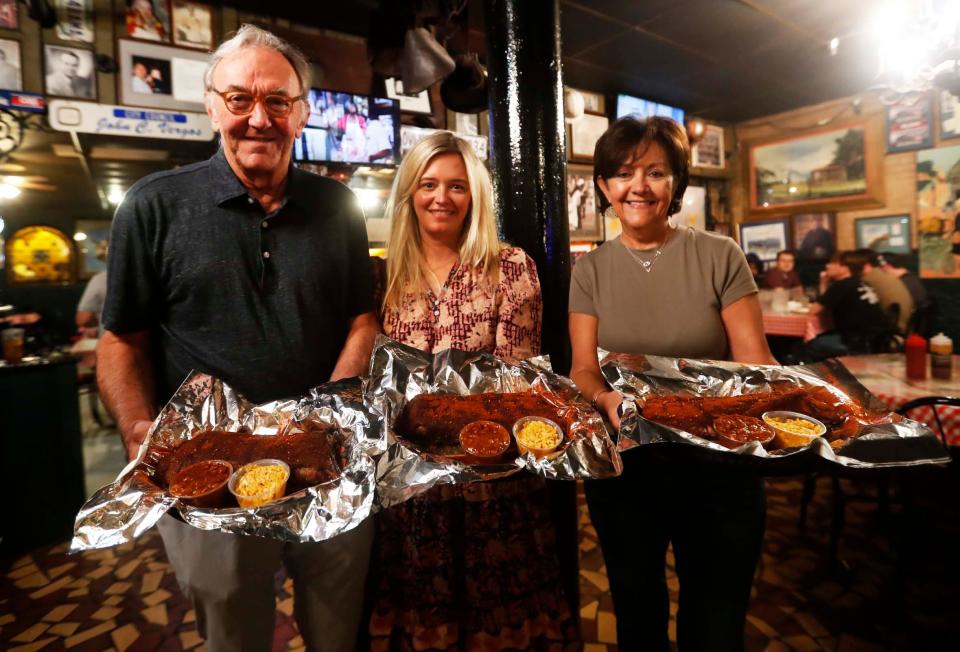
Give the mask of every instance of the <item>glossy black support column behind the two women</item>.
M 543 353 L 570 371 L 559 0 L 486 0 L 490 163 L 501 236 L 537 263 Z M 580 619 L 576 483 L 548 481 L 564 592 Z

